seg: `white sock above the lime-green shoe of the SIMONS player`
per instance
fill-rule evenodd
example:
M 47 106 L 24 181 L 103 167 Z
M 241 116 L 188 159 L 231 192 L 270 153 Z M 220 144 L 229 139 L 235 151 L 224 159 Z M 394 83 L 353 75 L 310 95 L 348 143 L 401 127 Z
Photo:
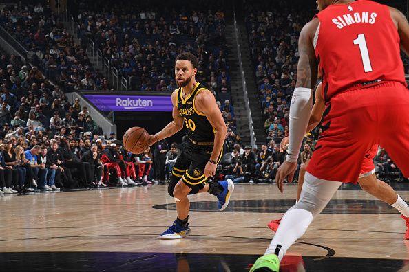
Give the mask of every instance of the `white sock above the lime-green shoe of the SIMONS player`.
M 264 255 L 276 254 L 281 262 L 287 249 L 304 235 L 312 221 L 313 214 L 305 209 L 290 209 L 287 211 L 282 216 L 277 232 Z

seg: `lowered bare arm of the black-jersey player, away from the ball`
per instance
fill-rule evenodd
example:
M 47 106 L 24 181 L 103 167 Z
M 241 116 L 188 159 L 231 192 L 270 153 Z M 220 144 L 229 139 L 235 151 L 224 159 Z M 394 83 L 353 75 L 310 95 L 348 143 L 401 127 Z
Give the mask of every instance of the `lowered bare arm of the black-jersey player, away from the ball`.
M 207 162 L 206 168 L 204 169 L 204 175 L 206 177 L 211 177 L 216 174 L 217 161 L 220 152 L 222 152 L 224 139 L 227 134 L 227 126 L 218 104 L 216 104 L 216 99 L 210 91 L 200 91 L 196 96 L 195 106 L 198 111 L 206 115 L 207 120 L 209 120 L 211 126 L 216 130 L 214 135 L 213 152 L 211 152 L 210 161 Z

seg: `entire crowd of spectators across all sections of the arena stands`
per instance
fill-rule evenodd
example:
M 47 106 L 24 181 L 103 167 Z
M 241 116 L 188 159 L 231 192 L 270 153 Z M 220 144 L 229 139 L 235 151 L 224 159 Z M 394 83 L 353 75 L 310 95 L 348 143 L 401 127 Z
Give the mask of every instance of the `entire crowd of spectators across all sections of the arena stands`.
M 187 8 L 176 12 L 169 8 L 163 13 L 112 4 L 110 12 L 105 12 L 84 1 L 78 19 L 83 44 L 85 38 L 93 38 L 121 73 L 131 78 L 135 89 L 176 89 L 172 80 L 175 56 L 185 51 L 196 54 L 200 59 L 198 81 L 215 94 L 228 127 L 218 178 L 231 178 L 235 183 L 273 183 L 286 155 L 280 141 L 289 135 L 289 102 L 297 79 L 297 36 L 312 14 L 280 4 L 281 8 L 271 8 L 271 12 L 258 5 L 247 8 L 265 118 L 266 141 L 260 149 L 242 146 L 236 133 L 222 10 Z M 0 52 L 0 194 L 169 181 L 183 143 L 169 145 L 163 140 L 143 154 L 133 155 L 120 146 L 114 133 L 103 136 L 79 100 L 68 102 L 67 91 L 110 89 L 109 82 L 94 71 L 84 47 L 74 43 L 46 5 L 7 7 L 0 13 L 0 24 L 28 49 L 25 60 Z M 321 133 L 318 126 L 306 134 L 300 166 L 311 158 Z M 381 179 L 403 179 L 382 148 L 375 157 L 375 167 Z

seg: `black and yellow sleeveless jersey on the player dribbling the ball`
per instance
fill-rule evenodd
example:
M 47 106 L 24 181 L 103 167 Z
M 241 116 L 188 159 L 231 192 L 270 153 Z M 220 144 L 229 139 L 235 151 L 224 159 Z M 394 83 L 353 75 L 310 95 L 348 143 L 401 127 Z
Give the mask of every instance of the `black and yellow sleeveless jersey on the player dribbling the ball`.
M 214 142 L 215 130 L 211 126 L 207 117 L 200 113 L 195 107 L 196 95 L 207 89 L 199 82 L 196 83 L 193 91 L 186 98 L 183 98 L 183 88 L 178 89 L 178 111 L 185 120 L 186 135 L 196 142 Z

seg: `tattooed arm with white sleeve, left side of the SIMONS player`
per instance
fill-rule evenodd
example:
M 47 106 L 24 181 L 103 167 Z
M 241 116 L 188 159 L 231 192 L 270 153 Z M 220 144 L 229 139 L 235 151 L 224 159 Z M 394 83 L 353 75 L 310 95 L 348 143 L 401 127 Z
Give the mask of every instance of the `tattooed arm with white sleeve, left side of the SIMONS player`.
M 281 192 L 283 192 L 282 183 L 287 176 L 289 176 L 290 182 L 293 181 L 294 172 L 297 168 L 298 153 L 300 152 L 302 139 L 313 107 L 313 88 L 317 82 L 318 71 L 313 39 L 318 25 L 319 19 L 317 18 L 307 23 L 303 27 L 298 41 L 300 59 L 297 66 L 297 84 L 290 107 L 288 154 L 286 161 L 277 170 L 275 177 Z

